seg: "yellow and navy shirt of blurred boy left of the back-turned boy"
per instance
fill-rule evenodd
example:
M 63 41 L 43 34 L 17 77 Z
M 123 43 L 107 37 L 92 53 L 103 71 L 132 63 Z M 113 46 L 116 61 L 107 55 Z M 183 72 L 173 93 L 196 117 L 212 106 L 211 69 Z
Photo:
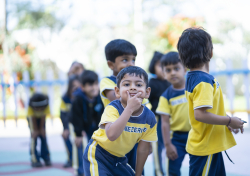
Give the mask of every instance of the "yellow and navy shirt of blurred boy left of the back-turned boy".
M 185 89 L 174 89 L 173 86 L 170 86 L 160 96 L 156 113 L 169 115 L 171 117 L 171 131 L 188 132 L 191 129 Z

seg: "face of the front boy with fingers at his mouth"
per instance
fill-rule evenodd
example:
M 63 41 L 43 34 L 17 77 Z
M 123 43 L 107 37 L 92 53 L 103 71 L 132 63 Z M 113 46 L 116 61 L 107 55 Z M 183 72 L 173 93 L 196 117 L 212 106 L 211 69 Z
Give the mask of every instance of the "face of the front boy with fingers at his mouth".
M 137 93 L 141 92 L 139 98 L 148 98 L 150 95 L 151 88 L 146 88 L 146 83 L 144 82 L 144 78 L 140 78 L 139 76 L 126 74 L 120 83 L 120 88 L 115 87 L 115 95 L 118 99 L 121 100 L 122 104 L 127 105 L 128 94 L 133 97 Z

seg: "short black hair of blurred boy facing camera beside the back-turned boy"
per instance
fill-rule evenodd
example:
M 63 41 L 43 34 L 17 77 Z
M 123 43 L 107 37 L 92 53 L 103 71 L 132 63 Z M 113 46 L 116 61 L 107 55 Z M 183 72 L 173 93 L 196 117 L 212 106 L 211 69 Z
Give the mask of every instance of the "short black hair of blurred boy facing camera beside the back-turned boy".
M 181 63 L 179 54 L 174 51 L 170 51 L 161 57 L 162 67 L 167 66 L 167 65 L 175 65 L 175 64 L 178 64 L 179 62 Z

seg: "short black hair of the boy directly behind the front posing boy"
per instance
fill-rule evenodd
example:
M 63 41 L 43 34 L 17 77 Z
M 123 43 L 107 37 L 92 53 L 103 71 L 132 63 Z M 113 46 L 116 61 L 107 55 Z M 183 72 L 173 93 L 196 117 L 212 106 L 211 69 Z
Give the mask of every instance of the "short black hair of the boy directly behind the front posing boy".
M 105 46 L 105 56 L 107 61 L 115 62 L 115 59 L 123 55 L 137 56 L 135 46 L 123 39 L 112 40 Z

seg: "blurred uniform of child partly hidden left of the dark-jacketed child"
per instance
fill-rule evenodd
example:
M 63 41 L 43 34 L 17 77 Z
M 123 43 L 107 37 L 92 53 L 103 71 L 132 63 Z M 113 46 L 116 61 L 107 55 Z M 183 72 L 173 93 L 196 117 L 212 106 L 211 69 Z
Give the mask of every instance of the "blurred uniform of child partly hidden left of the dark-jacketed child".
M 71 108 L 71 100 L 67 95 L 64 95 L 61 100 L 60 118 L 63 124 L 63 130 L 69 130 L 69 114 Z M 64 139 L 64 144 L 67 150 L 68 163 L 72 163 L 72 141 L 70 137 Z

